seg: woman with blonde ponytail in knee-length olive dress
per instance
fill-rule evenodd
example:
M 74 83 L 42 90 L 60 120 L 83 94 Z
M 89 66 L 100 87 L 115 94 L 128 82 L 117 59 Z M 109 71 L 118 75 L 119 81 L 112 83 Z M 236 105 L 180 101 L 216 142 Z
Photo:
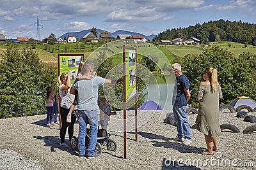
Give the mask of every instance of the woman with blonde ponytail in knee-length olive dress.
M 202 154 L 214 155 L 213 151 L 219 150 L 218 136 L 221 135 L 219 100 L 222 98 L 222 92 L 218 83 L 217 70 L 212 67 L 204 69 L 204 80 L 196 93 L 196 101 L 200 101 L 196 125 L 198 131 L 204 134 L 207 145 L 207 150 Z

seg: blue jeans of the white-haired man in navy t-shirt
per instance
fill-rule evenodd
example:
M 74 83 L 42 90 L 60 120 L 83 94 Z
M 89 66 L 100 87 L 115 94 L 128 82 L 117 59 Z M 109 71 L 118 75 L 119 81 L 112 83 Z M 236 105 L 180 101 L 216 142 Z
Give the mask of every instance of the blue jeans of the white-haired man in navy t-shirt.
M 186 106 L 173 106 L 173 116 L 177 124 L 178 138 L 191 140 L 190 126 L 186 113 Z

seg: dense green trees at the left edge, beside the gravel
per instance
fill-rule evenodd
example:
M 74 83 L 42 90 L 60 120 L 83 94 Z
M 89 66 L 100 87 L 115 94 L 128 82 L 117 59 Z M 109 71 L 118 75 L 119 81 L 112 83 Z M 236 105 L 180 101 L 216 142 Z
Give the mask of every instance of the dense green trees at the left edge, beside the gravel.
M 31 49 L 8 48 L 0 64 L 0 118 L 45 113 L 45 88 L 56 88 L 56 70 Z

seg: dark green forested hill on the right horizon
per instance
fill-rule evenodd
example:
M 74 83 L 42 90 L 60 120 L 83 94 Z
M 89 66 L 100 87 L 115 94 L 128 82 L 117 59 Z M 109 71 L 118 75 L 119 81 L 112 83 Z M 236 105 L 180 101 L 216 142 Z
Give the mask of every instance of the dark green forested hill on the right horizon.
M 187 28 L 166 29 L 160 32 L 152 39 L 155 43 L 160 40 L 175 38 L 188 39 L 195 37 L 200 39 L 203 44 L 209 44 L 214 41 L 232 41 L 237 43 L 248 43 L 249 45 L 256 45 L 256 24 L 231 22 L 229 20 L 209 21 L 202 25 L 196 24 Z

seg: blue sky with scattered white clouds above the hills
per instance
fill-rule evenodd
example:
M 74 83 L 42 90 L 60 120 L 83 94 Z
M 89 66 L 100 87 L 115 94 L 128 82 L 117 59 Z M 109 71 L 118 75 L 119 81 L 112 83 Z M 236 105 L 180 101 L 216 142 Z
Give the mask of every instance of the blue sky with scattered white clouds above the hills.
M 1 0 L 0 33 L 6 38 L 40 39 L 51 33 L 119 29 L 150 35 L 209 20 L 256 23 L 255 0 Z

